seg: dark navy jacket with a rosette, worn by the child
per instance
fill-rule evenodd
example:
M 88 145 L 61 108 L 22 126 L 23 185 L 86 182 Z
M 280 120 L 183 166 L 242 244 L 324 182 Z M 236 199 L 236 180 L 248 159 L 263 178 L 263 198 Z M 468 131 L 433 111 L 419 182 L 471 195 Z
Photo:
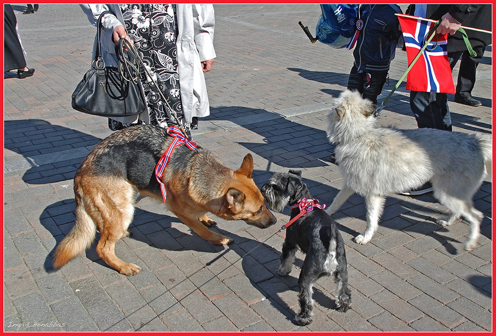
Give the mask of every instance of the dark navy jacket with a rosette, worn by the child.
M 355 66 L 362 71 L 388 71 L 394 58 L 396 44 L 401 36 L 396 4 L 363 4 L 360 19 L 364 26 L 353 50 Z

